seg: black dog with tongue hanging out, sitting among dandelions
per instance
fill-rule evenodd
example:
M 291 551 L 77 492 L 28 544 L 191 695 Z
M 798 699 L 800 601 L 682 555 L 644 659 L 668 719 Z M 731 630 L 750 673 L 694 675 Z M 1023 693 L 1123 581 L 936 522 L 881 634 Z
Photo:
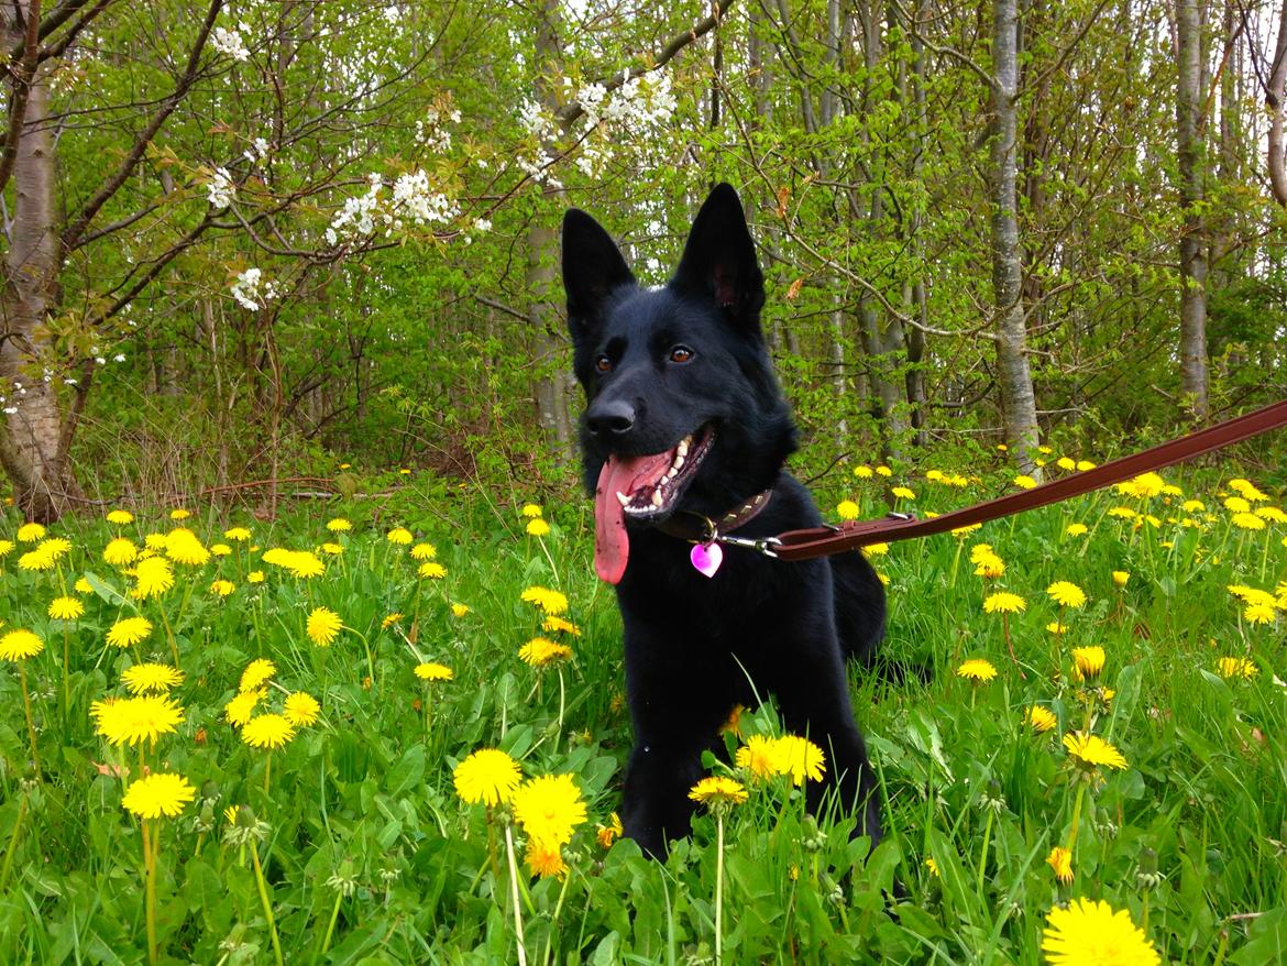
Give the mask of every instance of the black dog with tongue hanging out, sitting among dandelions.
M 737 193 L 710 192 L 663 289 L 640 287 L 583 211 L 562 227 L 574 367 L 586 390 L 580 442 L 595 492 L 598 576 L 616 585 L 634 751 L 625 833 L 660 854 L 687 835 L 701 752 L 755 690 L 826 752 L 828 782 L 861 831 L 880 835 L 875 779 L 849 706 L 846 658 L 870 661 L 884 589 L 857 553 L 784 563 L 701 547 L 713 526 L 768 537 L 821 519 L 784 469 L 790 410 L 759 327 L 763 274 Z M 709 578 L 696 569 L 712 563 Z M 810 786 L 810 808 L 821 788 Z

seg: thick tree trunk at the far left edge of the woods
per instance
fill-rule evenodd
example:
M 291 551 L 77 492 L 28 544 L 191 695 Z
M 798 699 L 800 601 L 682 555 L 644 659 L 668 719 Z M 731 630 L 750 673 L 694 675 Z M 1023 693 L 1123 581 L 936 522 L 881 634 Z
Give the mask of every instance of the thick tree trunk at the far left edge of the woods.
M 31 0 L 18 5 L 24 18 L 31 15 Z M 22 43 L 22 32 L 15 27 L 12 8 L 3 15 L 4 43 L 13 49 Z M 5 395 L 8 420 L 0 434 L 0 461 L 14 483 L 15 502 L 23 515 L 49 523 L 67 509 L 75 484 L 67 468 L 58 392 L 53 380 L 45 381 L 49 346 L 40 335 L 54 301 L 60 263 L 53 125 L 42 70 L 37 68 L 31 77 L 21 125 L 13 164 L 13 233 L 4 259 L 0 392 Z

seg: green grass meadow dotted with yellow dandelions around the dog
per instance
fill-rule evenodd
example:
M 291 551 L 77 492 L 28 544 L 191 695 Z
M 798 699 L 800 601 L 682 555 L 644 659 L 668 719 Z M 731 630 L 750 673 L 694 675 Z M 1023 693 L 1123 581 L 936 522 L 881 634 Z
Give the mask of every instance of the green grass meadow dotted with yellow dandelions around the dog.
M 50 568 L 19 565 L 39 541 L 0 559 L 0 634 L 27 629 L 45 644 L 0 662 L 0 961 L 147 962 L 149 895 L 160 962 L 516 961 L 516 895 L 526 962 L 709 962 L 717 880 L 725 962 L 1036 963 L 1048 913 L 1080 896 L 1129 914 L 1165 962 L 1281 961 L 1287 523 L 1268 513 L 1263 529 L 1237 526 L 1237 506 L 1223 505 L 1232 475 L 1172 475 L 1183 492 L 1108 491 L 876 551 L 888 652 L 934 674 L 891 685 L 853 671 L 887 800 L 887 837 L 867 857 L 849 818 L 815 819 L 786 779 L 748 775 L 735 775 L 750 796 L 728 808 L 722 853 L 712 815 L 664 863 L 629 841 L 605 846 L 631 729 L 619 620 L 589 565 L 586 506 L 546 506 L 551 531 L 534 537 L 517 506 L 412 478 L 395 505 L 331 505 L 274 526 L 214 510 L 181 523 L 160 510 L 121 526 L 69 520 L 50 535 L 72 545 Z M 1006 486 L 893 482 L 916 493 L 900 509 L 920 511 Z M 875 515 L 887 484 L 853 478 L 829 497 Z M 1185 509 L 1190 498 L 1203 507 Z M 353 528 L 329 532 L 335 516 Z M 14 538 L 18 523 L 0 536 Z M 1079 523 L 1086 532 L 1069 536 Z M 174 587 L 133 598 L 133 578 L 103 547 L 116 536 L 143 546 L 179 526 L 229 553 L 175 563 Z M 225 538 L 233 526 L 251 540 Z M 391 544 L 395 526 L 416 542 Z M 263 560 L 270 547 L 328 542 L 342 550 L 318 550 L 315 577 Z M 420 576 L 425 562 L 409 554 L 420 542 L 435 546 L 441 576 Z M 979 542 L 1004 573 L 974 576 Z M 250 580 L 256 571 L 261 582 Z M 1115 571 L 1130 574 L 1125 586 Z M 211 591 L 216 578 L 233 583 L 228 596 Z M 1055 603 L 1055 581 L 1077 585 L 1086 603 Z M 521 599 L 532 586 L 565 594 L 562 617 L 579 634 L 543 630 L 546 614 Z M 1268 591 L 1268 616 L 1230 586 Z M 1015 661 L 1001 614 L 983 608 L 999 590 L 1026 604 L 1005 617 Z M 84 614 L 50 618 L 62 595 Z M 326 648 L 308 634 L 317 608 L 342 621 Z M 151 635 L 108 645 L 112 625 L 133 614 L 152 622 Z M 1054 622 L 1064 632 L 1048 631 Z M 538 635 L 569 645 L 571 659 L 525 665 L 519 649 Z M 1093 645 L 1104 668 L 1079 681 L 1072 652 Z M 172 665 L 175 653 L 183 723 L 154 743 L 98 734 L 91 705 L 125 696 L 122 671 Z M 1224 676 L 1224 657 L 1254 672 Z M 247 746 L 228 721 L 257 658 L 275 672 L 255 714 L 281 711 L 291 692 L 320 702 L 318 720 L 273 751 Z M 996 676 L 958 676 L 970 658 Z M 421 662 L 445 665 L 452 680 L 421 680 Z M 1050 732 L 1024 723 L 1033 705 L 1054 714 Z M 748 710 L 740 729 L 779 733 L 772 707 Z M 1079 769 L 1062 743 L 1079 730 L 1127 766 Z M 734 750 L 737 737 L 726 737 Z M 507 809 L 456 793 L 454 766 L 485 747 L 529 778 L 574 775 L 588 820 L 561 850 L 564 875 L 530 875 L 525 829 L 506 827 Z M 158 836 L 151 872 L 140 822 L 121 805 L 143 772 L 184 775 L 196 791 L 176 818 L 148 820 Z M 1055 846 L 1072 850 L 1071 882 L 1046 863 Z

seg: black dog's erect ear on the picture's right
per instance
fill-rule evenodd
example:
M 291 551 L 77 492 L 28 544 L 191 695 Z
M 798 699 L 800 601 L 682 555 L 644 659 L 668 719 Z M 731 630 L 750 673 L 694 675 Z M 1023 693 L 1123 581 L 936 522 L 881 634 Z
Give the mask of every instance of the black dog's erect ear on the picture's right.
M 732 185 L 717 184 L 703 202 L 671 285 L 710 298 L 737 325 L 758 323 L 764 274 L 755 261 L 755 243 Z

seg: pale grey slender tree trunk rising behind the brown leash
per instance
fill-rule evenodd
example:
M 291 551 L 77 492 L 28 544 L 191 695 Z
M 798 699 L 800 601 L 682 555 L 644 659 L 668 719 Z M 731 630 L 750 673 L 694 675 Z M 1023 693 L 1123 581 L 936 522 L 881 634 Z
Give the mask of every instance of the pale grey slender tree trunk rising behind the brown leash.
M 992 35 L 992 296 L 996 362 L 1005 442 L 1022 473 L 1036 471 L 1037 404 L 1028 368 L 1023 317 L 1023 268 L 1018 220 L 1018 10 L 1015 0 L 996 0 Z

